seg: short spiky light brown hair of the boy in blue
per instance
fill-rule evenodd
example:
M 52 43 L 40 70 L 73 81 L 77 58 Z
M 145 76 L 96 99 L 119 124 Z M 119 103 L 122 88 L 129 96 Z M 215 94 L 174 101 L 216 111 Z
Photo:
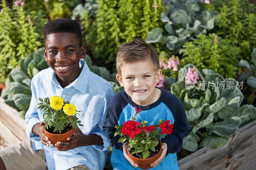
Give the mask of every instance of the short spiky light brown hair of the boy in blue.
M 150 62 L 156 70 L 160 68 L 156 50 L 145 41 L 133 39 L 118 47 L 116 55 L 116 70 L 118 74 L 121 74 L 121 67 L 125 64 L 137 62 Z

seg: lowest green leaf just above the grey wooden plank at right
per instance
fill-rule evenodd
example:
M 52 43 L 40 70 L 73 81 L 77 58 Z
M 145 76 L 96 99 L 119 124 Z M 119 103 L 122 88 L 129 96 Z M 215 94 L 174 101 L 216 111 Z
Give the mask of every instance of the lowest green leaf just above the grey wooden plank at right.
M 217 135 L 211 135 L 202 140 L 199 147 L 206 147 L 216 149 L 220 146 L 227 144 L 229 137 L 220 137 Z

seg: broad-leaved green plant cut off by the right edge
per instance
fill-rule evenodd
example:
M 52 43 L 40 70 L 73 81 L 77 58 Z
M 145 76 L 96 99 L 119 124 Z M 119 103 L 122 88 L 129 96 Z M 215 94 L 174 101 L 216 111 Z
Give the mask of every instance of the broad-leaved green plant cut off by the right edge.
M 240 60 L 238 65 L 241 67 L 245 67 L 247 72 L 243 72 L 239 77 L 238 80 L 246 81 L 246 83 L 250 86 L 249 91 L 251 94 L 246 95 L 247 104 L 252 104 L 254 100 L 254 94 L 256 92 L 256 48 L 252 51 L 252 64 L 250 64 L 246 60 Z

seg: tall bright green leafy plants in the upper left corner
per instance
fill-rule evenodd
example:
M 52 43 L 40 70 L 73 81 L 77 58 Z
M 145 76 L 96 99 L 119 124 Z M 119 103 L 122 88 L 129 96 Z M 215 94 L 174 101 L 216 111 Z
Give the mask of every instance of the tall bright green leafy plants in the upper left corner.
M 0 11 L 0 82 L 17 67 L 18 61 L 43 45 L 42 11 L 24 11 L 22 6 L 1 3 Z M 39 31 L 41 30 L 41 31 Z

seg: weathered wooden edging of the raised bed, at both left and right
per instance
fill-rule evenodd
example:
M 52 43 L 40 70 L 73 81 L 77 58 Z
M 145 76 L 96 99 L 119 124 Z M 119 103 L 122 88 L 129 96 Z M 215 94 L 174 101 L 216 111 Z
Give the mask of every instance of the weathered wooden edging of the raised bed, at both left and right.
M 25 121 L 17 110 L 0 98 L 0 136 L 12 145 L 27 139 Z M 178 161 L 180 170 L 254 169 L 256 167 L 256 120 L 239 128 L 226 145 L 217 149 L 201 148 Z

